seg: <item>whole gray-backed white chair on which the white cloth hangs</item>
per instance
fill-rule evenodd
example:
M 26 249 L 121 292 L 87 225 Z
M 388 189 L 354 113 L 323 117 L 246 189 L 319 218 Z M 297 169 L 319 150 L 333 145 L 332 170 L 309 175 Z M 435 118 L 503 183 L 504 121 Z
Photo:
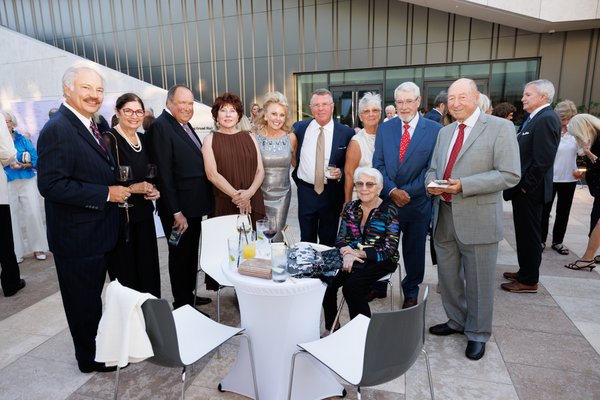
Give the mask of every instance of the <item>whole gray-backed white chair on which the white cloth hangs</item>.
M 250 366 L 254 383 L 255 399 L 258 399 L 254 357 L 250 338 L 243 334 L 244 328 L 234 328 L 219 324 L 204 316 L 189 305 L 171 311 L 165 299 L 149 299 L 142 304 L 146 321 L 146 332 L 152 343 L 154 356 L 148 362 L 170 368 L 183 368 L 181 372 L 181 399 L 185 398 L 185 372 L 212 350 L 221 346 L 233 336 L 239 335 L 248 342 Z M 114 398 L 119 387 L 119 369 L 115 378 Z

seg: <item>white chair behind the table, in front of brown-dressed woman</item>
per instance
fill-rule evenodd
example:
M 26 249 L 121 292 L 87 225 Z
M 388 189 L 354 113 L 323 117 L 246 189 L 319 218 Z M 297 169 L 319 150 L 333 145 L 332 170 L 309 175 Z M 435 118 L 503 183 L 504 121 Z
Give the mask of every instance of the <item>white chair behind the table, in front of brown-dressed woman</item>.
M 213 278 L 217 289 L 217 321 L 221 321 L 221 289 L 233 287 L 223 274 L 222 264 L 229 257 L 227 238 L 236 234 L 237 214 L 208 218 L 202 221 L 200 268 Z M 196 294 L 198 282 L 196 282 Z

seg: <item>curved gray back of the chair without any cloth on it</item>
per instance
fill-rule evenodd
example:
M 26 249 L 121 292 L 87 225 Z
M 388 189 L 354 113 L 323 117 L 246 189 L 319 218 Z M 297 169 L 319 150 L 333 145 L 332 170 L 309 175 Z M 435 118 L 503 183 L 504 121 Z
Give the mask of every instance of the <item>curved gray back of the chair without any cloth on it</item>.
M 425 343 L 425 306 L 429 288 L 414 307 L 374 313 L 365 343 L 360 386 L 375 386 L 404 374 Z

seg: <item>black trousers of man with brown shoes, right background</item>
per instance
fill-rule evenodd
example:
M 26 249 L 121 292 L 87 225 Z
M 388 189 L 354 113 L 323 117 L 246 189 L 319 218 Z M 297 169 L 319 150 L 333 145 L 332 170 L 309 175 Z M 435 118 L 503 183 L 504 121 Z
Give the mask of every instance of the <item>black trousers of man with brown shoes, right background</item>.
M 518 190 L 513 198 L 513 221 L 517 241 L 519 276 L 525 285 L 538 283 L 542 262 L 542 210 L 544 204 Z

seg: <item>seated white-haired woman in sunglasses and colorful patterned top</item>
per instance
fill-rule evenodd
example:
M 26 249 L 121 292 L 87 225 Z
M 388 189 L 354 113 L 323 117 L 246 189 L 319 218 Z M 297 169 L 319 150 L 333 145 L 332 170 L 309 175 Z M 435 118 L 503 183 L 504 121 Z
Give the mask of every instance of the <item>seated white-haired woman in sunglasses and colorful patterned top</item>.
M 379 197 L 383 176 L 375 168 L 357 168 L 354 186 L 358 200 L 350 201 L 344 207 L 335 243 L 344 257 L 344 265 L 323 298 L 326 331 L 322 336 L 331 331 L 340 286 L 350 318 L 358 314 L 370 317 L 369 288 L 381 277 L 394 272 L 398 263 L 398 209 L 392 201 Z

